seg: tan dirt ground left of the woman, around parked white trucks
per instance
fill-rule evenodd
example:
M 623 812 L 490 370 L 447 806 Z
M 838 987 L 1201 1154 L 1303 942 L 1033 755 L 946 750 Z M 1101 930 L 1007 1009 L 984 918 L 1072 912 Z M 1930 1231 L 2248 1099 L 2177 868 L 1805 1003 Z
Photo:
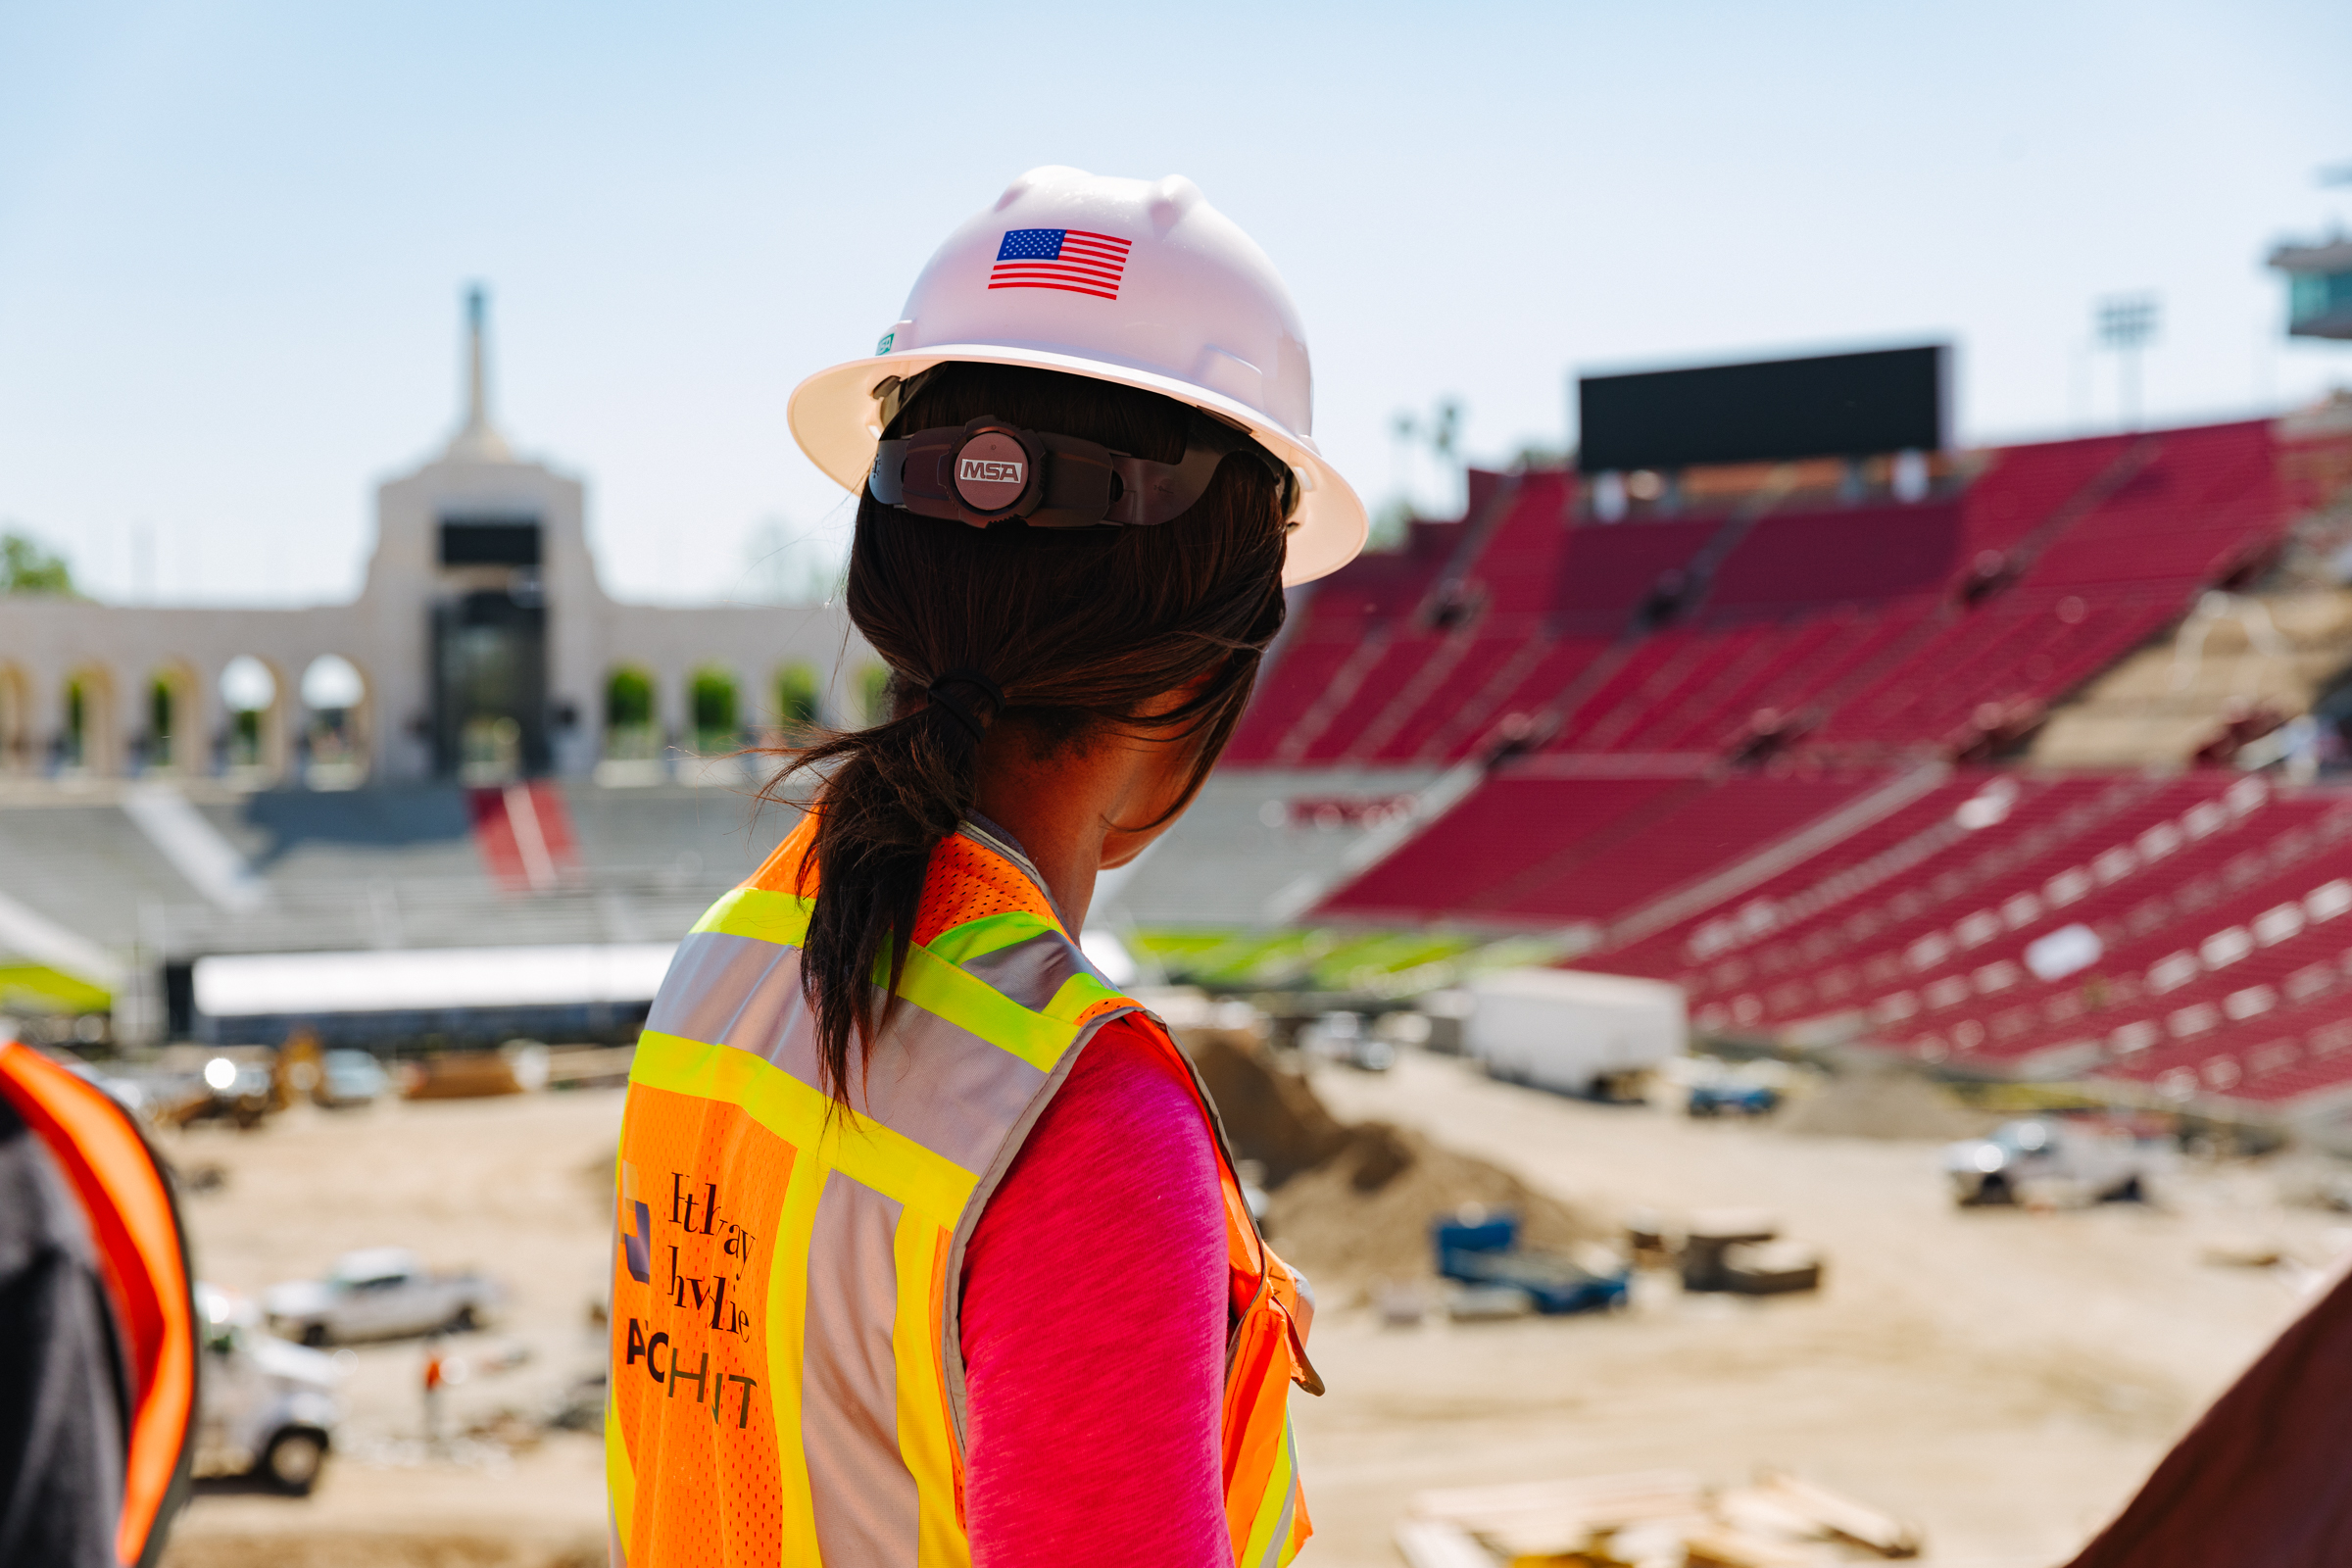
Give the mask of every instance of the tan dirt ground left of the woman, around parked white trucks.
M 287 1500 L 207 1483 L 181 1516 L 172 1568 L 541 1568 L 602 1563 L 604 1455 L 546 1432 L 560 1394 L 602 1363 L 602 1298 L 619 1091 L 296 1107 L 256 1133 L 169 1135 L 183 1168 L 219 1166 L 188 1199 L 198 1269 L 233 1291 L 322 1272 L 355 1246 L 414 1246 L 435 1267 L 482 1267 L 508 1293 L 499 1321 L 447 1349 L 468 1363 L 445 1394 L 442 1453 L 423 1443 L 416 1340 L 362 1345 L 346 1425 L 320 1488 Z M 597 1173 L 590 1175 L 590 1168 Z M 520 1366 L 489 1368 L 524 1352 Z M 513 1418 L 501 1420 L 501 1413 Z M 468 1429 L 489 1427 L 485 1436 Z

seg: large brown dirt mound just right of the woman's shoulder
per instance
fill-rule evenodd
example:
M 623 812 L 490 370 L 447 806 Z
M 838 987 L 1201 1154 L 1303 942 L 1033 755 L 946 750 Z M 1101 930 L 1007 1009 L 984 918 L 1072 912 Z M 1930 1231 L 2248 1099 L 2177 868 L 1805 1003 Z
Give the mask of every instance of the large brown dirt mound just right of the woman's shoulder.
M 1181 1039 L 1235 1157 L 1265 1166 L 1268 1234 L 1312 1279 L 1430 1274 L 1430 1220 L 1465 1204 L 1517 1213 L 1526 1246 L 1604 1234 L 1590 1215 L 1484 1159 L 1385 1121 L 1338 1121 L 1303 1074 L 1270 1063 L 1247 1034 L 1183 1030 Z

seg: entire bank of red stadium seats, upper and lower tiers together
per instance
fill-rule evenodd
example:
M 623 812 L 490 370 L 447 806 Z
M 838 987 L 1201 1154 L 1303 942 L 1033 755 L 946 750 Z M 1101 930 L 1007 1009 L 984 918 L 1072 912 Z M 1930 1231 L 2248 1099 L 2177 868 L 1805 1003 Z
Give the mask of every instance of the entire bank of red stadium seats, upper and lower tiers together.
M 2352 797 L 1987 762 L 2274 559 L 2288 473 L 2230 423 L 1616 524 L 1472 475 L 1296 607 L 1232 762 L 1484 769 L 1327 919 L 1552 931 L 1717 1034 L 2352 1100 Z

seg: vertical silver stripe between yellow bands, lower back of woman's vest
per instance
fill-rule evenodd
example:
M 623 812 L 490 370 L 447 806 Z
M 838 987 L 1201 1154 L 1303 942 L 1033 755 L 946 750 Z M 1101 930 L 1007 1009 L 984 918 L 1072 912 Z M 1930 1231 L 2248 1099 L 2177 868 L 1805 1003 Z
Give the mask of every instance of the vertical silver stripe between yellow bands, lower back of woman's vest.
M 800 1373 L 800 1446 L 826 1568 L 906 1568 L 920 1500 L 898 1455 L 901 1204 L 826 1173 L 809 1232 L 809 1316 Z

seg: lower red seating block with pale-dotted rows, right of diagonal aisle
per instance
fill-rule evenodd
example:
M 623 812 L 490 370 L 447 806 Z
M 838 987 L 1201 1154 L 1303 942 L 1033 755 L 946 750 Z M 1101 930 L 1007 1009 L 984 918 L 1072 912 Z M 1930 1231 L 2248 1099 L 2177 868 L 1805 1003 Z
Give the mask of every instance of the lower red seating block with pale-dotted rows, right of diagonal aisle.
M 2352 802 L 2263 776 L 1962 771 L 1588 964 L 1700 1027 L 2286 1100 L 2352 1081 Z M 2336 1058 L 2336 1060 L 2331 1060 Z

